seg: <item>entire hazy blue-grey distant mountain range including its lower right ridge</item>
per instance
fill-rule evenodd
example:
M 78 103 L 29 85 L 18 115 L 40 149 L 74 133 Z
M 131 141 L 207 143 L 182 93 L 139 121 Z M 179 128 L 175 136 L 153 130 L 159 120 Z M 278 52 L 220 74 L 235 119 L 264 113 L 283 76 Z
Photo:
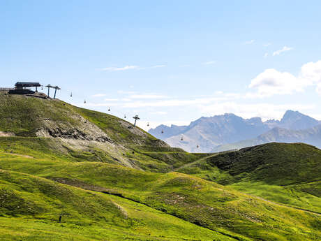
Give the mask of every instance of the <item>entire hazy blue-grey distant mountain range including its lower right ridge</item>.
M 234 114 L 225 114 L 201 117 L 188 126 L 160 125 L 150 129 L 149 133 L 172 147 L 180 147 L 188 152 L 225 151 L 271 141 L 316 143 L 321 147 L 321 136 L 318 136 L 318 131 L 313 131 L 313 127 L 318 125 L 321 122 L 317 119 L 288 110 L 281 120 L 262 122 L 260 117 L 244 119 Z

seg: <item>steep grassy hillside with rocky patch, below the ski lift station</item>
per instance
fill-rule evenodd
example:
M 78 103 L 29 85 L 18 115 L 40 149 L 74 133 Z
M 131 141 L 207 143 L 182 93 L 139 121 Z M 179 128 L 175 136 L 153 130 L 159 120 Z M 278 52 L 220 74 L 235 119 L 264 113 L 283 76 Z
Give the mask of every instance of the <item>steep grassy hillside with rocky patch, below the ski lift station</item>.
M 36 138 L 38 130 L 47 128 L 46 121 L 52 122 L 55 128 L 73 131 L 84 124 L 81 118 L 98 126 L 110 138 L 110 143 L 86 143 L 84 140 L 70 140 L 68 143 Z M 167 146 L 138 127 L 128 129 L 130 125 L 112 115 L 76 108 L 63 101 L 0 92 L 0 131 L 20 137 L 0 138 L 0 148 L 9 152 L 33 153 L 48 159 L 119 163 L 162 173 L 197 158 L 197 155 Z

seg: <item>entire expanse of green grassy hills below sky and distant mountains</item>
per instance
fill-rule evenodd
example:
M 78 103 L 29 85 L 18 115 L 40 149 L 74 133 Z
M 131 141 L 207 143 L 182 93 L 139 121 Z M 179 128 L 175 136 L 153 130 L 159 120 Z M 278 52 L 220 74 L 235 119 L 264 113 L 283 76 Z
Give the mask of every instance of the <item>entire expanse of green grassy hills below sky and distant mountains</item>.
M 0 240 L 321 240 L 311 146 L 190 154 L 117 117 L 5 92 L 0 114 Z

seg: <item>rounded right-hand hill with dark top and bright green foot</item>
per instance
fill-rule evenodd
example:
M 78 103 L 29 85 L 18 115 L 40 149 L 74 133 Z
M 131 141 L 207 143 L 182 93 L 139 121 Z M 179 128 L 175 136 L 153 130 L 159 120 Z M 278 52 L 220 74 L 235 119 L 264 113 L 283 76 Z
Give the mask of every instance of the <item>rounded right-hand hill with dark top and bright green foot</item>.
M 179 171 L 276 203 L 321 212 L 321 150 L 271 143 L 218 154 Z

